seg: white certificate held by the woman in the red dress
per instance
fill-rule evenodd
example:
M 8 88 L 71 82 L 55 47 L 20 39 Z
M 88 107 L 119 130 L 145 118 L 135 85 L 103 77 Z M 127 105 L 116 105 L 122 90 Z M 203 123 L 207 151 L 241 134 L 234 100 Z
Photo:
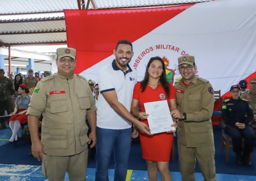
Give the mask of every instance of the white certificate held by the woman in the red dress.
M 144 107 L 152 134 L 175 131 L 167 100 L 144 103 Z

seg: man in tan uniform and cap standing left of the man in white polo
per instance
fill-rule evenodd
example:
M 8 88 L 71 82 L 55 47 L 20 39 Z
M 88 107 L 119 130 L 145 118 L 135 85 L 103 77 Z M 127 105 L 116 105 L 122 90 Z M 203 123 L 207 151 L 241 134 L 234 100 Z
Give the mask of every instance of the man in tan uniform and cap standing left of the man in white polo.
M 86 78 L 74 74 L 76 50 L 58 48 L 58 72 L 42 79 L 31 97 L 27 111 L 32 154 L 42 160 L 42 174 L 49 181 L 85 181 L 87 142 L 96 145 L 96 106 Z M 43 114 L 42 137 L 38 118 Z M 87 116 L 91 133 L 87 137 Z

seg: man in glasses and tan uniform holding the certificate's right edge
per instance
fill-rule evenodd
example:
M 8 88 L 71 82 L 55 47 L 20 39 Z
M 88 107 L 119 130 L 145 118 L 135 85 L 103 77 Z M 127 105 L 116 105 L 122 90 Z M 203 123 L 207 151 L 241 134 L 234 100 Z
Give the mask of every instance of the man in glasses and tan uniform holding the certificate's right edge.
M 212 112 L 214 91 L 208 80 L 195 75 L 194 56 L 178 58 L 182 79 L 175 82 L 178 109 L 171 115 L 178 119 L 179 165 L 183 181 L 195 181 L 196 160 L 204 181 L 216 181 Z

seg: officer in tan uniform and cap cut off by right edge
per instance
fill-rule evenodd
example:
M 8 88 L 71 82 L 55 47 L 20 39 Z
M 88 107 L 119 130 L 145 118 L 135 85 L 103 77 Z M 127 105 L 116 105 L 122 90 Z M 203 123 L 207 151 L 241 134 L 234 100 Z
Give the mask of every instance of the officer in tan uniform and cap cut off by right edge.
M 246 99 L 253 109 L 253 120 L 256 122 L 256 78 L 250 79 L 250 90 L 241 95 L 242 99 Z M 253 121 L 252 121 L 253 123 Z

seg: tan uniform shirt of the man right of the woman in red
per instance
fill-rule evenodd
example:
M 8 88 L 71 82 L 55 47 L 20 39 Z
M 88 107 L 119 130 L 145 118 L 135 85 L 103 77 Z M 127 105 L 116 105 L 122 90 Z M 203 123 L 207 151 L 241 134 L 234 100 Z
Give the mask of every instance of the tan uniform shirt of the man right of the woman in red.
M 184 86 L 181 79 L 175 82 L 178 109 L 187 119 L 178 121 L 178 142 L 187 147 L 213 145 L 212 113 L 214 91 L 208 80 L 196 76 Z

